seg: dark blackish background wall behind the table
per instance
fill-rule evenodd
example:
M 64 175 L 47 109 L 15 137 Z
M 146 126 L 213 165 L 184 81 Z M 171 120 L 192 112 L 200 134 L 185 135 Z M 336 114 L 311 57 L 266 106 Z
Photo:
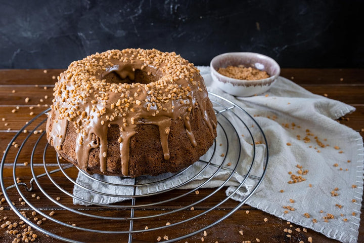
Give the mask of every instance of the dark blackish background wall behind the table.
M 281 67 L 364 67 L 362 1 L 1 1 L 0 68 L 66 68 L 108 49 L 197 65 L 258 52 Z

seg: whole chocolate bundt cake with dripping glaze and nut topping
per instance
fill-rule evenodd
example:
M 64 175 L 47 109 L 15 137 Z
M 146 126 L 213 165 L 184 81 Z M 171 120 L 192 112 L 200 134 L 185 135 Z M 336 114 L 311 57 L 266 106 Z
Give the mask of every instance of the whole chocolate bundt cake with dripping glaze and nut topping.
M 174 52 L 96 53 L 60 74 L 54 96 L 49 143 L 89 173 L 176 172 L 197 161 L 216 137 L 203 78 Z

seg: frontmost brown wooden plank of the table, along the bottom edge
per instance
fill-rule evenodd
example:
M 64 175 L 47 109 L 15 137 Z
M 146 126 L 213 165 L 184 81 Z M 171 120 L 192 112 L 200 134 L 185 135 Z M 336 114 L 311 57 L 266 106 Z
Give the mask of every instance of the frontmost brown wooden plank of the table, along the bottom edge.
M 33 217 L 42 218 L 42 216 L 31 215 L 32 211 L 26 211 L 27 216 L 30 216 L 30 219 L 33 220 Z M 45 214 L 49 214 L 50 210 L 42 210 Z M 153 230 L 156 227 L 165 226 L 167 222 L 171 224 L 178 222 L 178 219 L 189 219 L 191 216 L 198 215 L 203 213 L 201 210 L 194 211 L 183 211 L 178 212 L 175 215 L 166 216 L 162 218 L 149 218 L 134 220 L 133 221 L 133 229 L 134 230 L 143 230 L 146 226 L 149 227 L 150 231 L 142 232 L 142 233 L 134 233 L 132 235 L 132 242 L 151 242 L 157 241 L 158 236 L 163 237 L 166 235 L 169 239 L 173 239 L 179 236 L 183 236 L 187 233 L 202 229 L 208 224 L 215 222 L 216 220 L 224 217 L 228 212 L 225 210 L 215 210 L 210 213 L 207 213 L 204 216 L 200 216 L 197 219 L 188 221 L 186 223 L 171 225 L 169 227 Z M 87 213 L 90 214 L 100 214 L 100 211 L 97 210 L 89 210 Z M 118 212 L 119 215 L 126 216 L 129 212 Z M 144 217 L 149 216 L 150 214 L 160 214 L 164 213 L 164 211 L 135 211 L 135 217 Z M 115 215 L 115 211 L 102 211 L 103 216 L 113 216 Z M 20 220 L 14 217 L 14 212 L 9 210 L 4 210 L 0 212 L 0 217 L 8 216 L 12 222 Z M 93 219 L 93 223 L 90 224 L 89 220 L 86 220 L 84 216 L 77 216 L 69 213 L 64 213 L 62 211 L 55 211 L 55 215 L 53 216 L 55 219 L 65 222 L 67 224 L 75 223 L 78 227 L 85 227 L 91 229 L 98 230 L 128 230 L 129 223 L 127 220 L 101 220 L 101 219 Z M 265 222 L 263 219 L 267 218 Z M 208 219 L 208 220 L 207 220 Z M 361 218 L 363 219 L 363 218 Z M 292 226 L 292 227 L 290 227 Z M 19 226 L 18 226 L 19 227 Z M 126 242 L 127 234 L 101 234 L 101 233 L 91 233 L 85 232 L 77 229 L 70 229 L 68 227 L 59 226 L 51 220 L 46 220 L 41 224 L 41 227 L 52 231 L 55 234 L 62 235 L 66 238 L 81 240 L 83 242 Z M 284 229 L 291 229 L 292 233 L 284 232 Z M 295 229 L 299 228 L 300 232 Z M 180 240 L 177 242 L 201 242 L 201 238 L 204 237 L 206 242 L 241 242 L 243 240 L 251 240 L 252 242 L 256 242 L 256 238 L 260 240 L 260 242 L 298 242 L 299 240 L 303 240 L 304 242 L 308 242 L 308 237 L 312 237 L 313 242 L 337 242 L 336 240 L 329 239 L 325 235 L 315 232 L 313 230 L 307 229 L 307 232 L 302 230 L 301 226 L 297 226 L 294 224 L 287 224 L 285 221 L 281 221 L 275 216 L 271 216 L 259 210 L 251 209 L 249 214 L 245 213 L 245 210 L 238 210 L 232 216 L 228 217 L 222 223 L 219 223 L 211 228 L 206 229 L 206 236 L 203 235 L 203 232 L 197 233 L 189 238 L 184 240 Z M 243 235 L 239 233 L 239 231 L 243 231 Z M 358 242 L 362 242 L 364 240 L 362 230 L 359 233 Z M 38 233 L 39 234 L 39 233 Z M 291 237 L 287 235 L 290 234 Z M 8 235 L 4 235 L 4 239 L 7 239 Z M 12 237 L 14 238 L 14 236 Z M 12 239 L 10 238 L 10 239 Z M 58 240 L 54 240 L 51 238 L 47 238 L 43 234 L 39 234 L 38 242 L 61 242 Z M 116 241 L 115 241 L 116 240 Z M 10 242 L 10 241 L 9 241 Z

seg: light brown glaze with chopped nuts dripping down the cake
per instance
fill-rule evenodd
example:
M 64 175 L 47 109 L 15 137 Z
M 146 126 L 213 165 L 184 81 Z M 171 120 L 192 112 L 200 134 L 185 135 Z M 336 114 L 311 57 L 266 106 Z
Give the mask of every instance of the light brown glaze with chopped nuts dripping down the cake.
M 54 117 L 52 113 L 49 116 L 54 122 L 48 139 L 53 140 L 57 151 L 61 150 L 67 126 L 73 125 L 78 133 L 77 163 L 83 170 L 87 169 L 90 150 L 99 148 L 100 171 L 107 171 L 107 134 L 111 125 L 118 125 L 120 129 L 120 163 L 125 176 L 128 175 L 130 139 L 139 124 L 158 126 L 165 160 L 170 159 L 168 136 L 172 119 L 184 119 L 186 134 L 192 146 L 197 146 L 190 123 L 190 114 L 197 105 L 215 136 L 216 124 L 206 110 L 210 100 L 198 69 L 175 53 L 129 50 L 132 52 L 112 50 L 73 62 L 56 83 Z M 78 69 L 79 66 L 82 69 Z M 160 78 L 148 84 L 138 83 L 134 75 L 137 69 Z M 82 73 L 83 70 L 88 71 Z M 103 77 L 111 72 L 135 83 L 107 83 Z M 97 137 L 96 143 L 93 134 Z

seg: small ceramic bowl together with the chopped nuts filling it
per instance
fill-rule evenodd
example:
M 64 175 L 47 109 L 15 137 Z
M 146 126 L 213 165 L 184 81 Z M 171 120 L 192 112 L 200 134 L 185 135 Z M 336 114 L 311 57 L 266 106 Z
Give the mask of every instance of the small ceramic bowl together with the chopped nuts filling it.
M 252 52 L 220 54 L 211 60 L 210 68 L 218 88 L 243 97 L 266 92 L 281 72 L 274 59 Z

